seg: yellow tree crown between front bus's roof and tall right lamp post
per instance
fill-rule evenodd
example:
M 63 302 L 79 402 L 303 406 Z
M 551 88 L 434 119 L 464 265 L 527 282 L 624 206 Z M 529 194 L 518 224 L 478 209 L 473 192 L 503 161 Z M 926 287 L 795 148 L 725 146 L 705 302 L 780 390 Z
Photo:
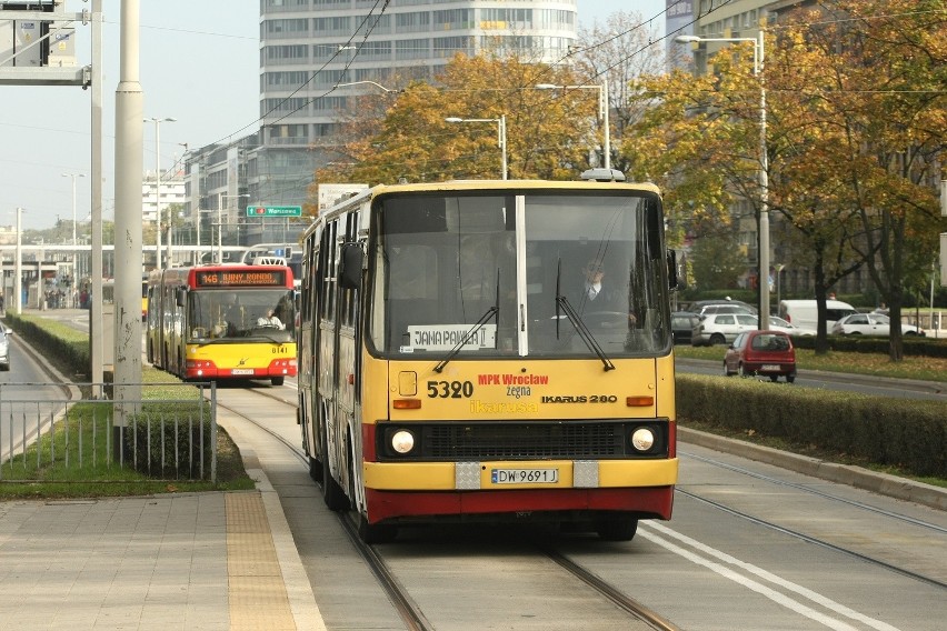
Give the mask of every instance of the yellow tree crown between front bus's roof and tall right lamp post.
M 644 111 L 621 139 L 626 174 L 662 189 L 671 244 L 731 226 L 737 199 L 758 208 L 759 89 L 751 47 L 734 48 L 716 73 L 675 70 L 630 86 Z

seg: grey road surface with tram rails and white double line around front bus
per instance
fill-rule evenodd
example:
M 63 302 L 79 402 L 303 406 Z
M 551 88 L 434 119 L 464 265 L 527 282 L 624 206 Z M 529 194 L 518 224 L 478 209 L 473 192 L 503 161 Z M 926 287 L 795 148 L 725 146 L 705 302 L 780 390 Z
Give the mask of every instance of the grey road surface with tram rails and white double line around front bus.
M 670 522 L 641 522 L 627 543 L 528 528 L 405 528 L 370 548 L 396 598 L 309 479 L 291 392 L 255 384 L 223 389 L 220 400 L 245 414 L 233 435 L 280 493 L 329 629 L 933 630 L 947 614 L 944 511 L 694 444 L 681 445 Z M 632 618 L 616 598 L 667 625 Z

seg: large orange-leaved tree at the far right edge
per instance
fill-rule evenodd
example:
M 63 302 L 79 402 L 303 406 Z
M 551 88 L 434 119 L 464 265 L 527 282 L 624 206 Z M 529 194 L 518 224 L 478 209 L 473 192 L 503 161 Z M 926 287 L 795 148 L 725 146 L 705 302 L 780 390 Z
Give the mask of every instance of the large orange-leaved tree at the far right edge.
M 947 13 L 943 0 L 820 4 L 791 17 L 769 61 L 767 80 L 780 90 L 782 128 L 791 130 L 778 166 L 782 194 L 830 201 L 831 217 L 795 216 L 800 229 L 856 220 L 846 222 L 847 244 L 890 309 L 897 361 L 906 281 L 928 269 L 943 230 L 936 182 L 947 129 Z

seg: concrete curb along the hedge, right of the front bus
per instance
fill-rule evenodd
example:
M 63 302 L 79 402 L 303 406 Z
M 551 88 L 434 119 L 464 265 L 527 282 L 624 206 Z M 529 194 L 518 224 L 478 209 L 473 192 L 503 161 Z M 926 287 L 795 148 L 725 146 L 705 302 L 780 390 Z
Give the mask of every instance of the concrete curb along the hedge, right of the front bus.
M 707 449 L 724 453 L 741 455 L 820 480 L 847 484 L 856 489 L 871 491 L 907 502 L 915 502 L 941 511 L 947 510 L 947 489 L 933 484 L 915 482 L 887 473 L 878 473 L 863 469 L 861 467 L 837 464 L 808 455 L 798 455 L 680 425 L 677 428 L 677 437 L 682 442 L 706 447 Z

